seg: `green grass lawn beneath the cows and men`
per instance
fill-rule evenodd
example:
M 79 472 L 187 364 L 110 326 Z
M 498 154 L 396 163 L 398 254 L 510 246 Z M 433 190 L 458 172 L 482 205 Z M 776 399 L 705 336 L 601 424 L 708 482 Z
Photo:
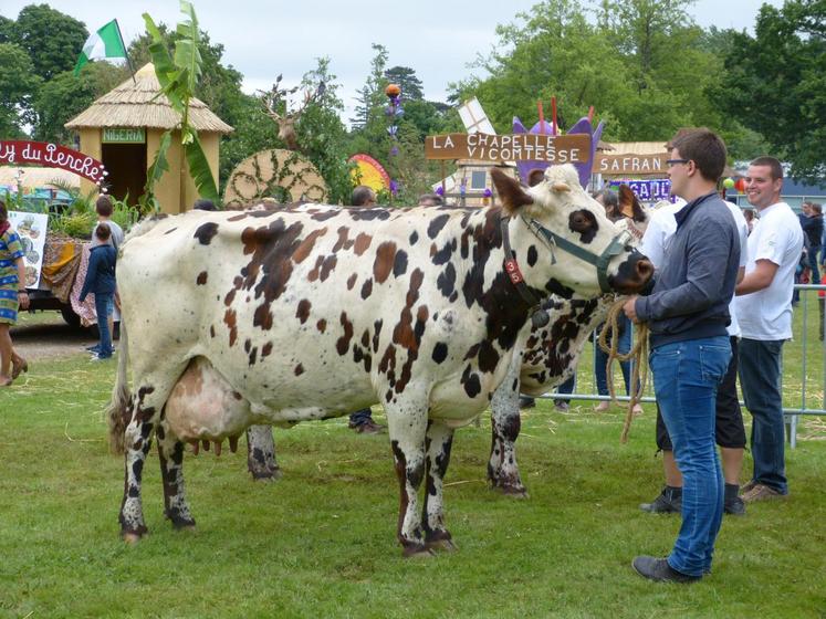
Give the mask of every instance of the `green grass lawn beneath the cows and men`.
M 387 437 L 346 419 L 276 430 L 284 478 L 272 484 L 250 481 L 244 453 L 188 455 L 195 533 L 164 521 L 153 452 L 150 534 L 129 547 L 123 462 L 102 420 L 114 370 L 76 354 L 32 364 L 0 392 L 0 617 L 826 617 L 819 419 L 787 453 L 791 496 L 726 517 L 712 576 L 678 587 L 630 568 L 667 554 L 679 527 L 637 508 L 661 485 L 651 406 L 620 445 L 618 409 L 540 402 L 519 441 L 527 501 L 485 486 L 489 420 L 459 430 L 446 489 L 454 554 L 400 557 Z

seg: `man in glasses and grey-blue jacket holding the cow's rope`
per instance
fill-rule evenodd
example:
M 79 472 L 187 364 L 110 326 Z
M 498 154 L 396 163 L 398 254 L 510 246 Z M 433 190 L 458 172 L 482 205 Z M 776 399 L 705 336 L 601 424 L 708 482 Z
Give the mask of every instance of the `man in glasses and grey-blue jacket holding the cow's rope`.
M 714 445 L 717 388 L 729 366 L 729 302 L 740 240 L 717 192 L 725 145 L 709 129 L 680 132 L 671 141 L 672 193 L 688 203 L 648 296 L 624 305 L 648 323 L 649 364 L 662 418 L 682 473 L 682 526 L 667 558 L 640 556 L 634 568 L 651 580 L 691 583 L 711 569 L 723 515 L 723 476 Z

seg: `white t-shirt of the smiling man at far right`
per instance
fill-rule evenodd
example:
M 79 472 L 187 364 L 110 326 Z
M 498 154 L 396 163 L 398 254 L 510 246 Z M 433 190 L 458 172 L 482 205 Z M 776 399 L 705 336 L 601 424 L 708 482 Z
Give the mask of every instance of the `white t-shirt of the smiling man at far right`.
M 790 206 L 777 202 L 763 209 L 749 237 L 745 274 L 754 271 L 759 260 L 770 260 L 777 272 L 767 287 L 736 297 L 743 337 L 764 342 L 792 337 L 794 271 L 802 251 L 803 229 Z

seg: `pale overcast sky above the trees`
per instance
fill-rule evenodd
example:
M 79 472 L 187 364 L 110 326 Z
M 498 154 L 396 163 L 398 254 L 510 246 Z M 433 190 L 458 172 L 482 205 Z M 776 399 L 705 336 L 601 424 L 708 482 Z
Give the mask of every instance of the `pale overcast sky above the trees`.
M 177 0 L 2 0 L 0 14 L 17 19 L 20 9 L 48 3 L 85 23 L 90 32 L 117 18 L 128 44 L 145 31 L 143 12 L 156 23 L 175 25 L 181 13 Z M 283 73 L 294 85 L 330 56 L 342 85 L 345 118 L 353 97 L 369 72 L 372 43 L 389 51 L 388 66 L 412 67 L 425 96 L 443 101 L 450 82 L 467 77 L 468 63 L 496 42 L 496 24 L 530 11 L 535 0 L 195 0 L 201 30 L 224 46 L 223 63 L 244 76 L 244 90 L 272 85 Z M 753 30 L 762 0 L 698 0 L 691 13 L 702 27 Z M 771 0 L 781 6 L 781 0 Z

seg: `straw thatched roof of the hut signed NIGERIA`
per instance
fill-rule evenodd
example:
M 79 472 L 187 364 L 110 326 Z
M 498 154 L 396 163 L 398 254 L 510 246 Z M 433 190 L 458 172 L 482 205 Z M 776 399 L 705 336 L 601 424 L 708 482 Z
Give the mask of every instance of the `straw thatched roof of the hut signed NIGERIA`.
M 129 77 L 65 126 L 77 130 L 86 127 L 147 127 L 164 130 L 177 127 L 180 115 L 172 109 L 169 99 L 159 93 L 160 83 L 155 75 L 155 66 L 146 64 L 135 73 L 134 81 Z M 232 132 L 232 127 L 198 98 L 189 101 L 189 124 L 198 132 Z

